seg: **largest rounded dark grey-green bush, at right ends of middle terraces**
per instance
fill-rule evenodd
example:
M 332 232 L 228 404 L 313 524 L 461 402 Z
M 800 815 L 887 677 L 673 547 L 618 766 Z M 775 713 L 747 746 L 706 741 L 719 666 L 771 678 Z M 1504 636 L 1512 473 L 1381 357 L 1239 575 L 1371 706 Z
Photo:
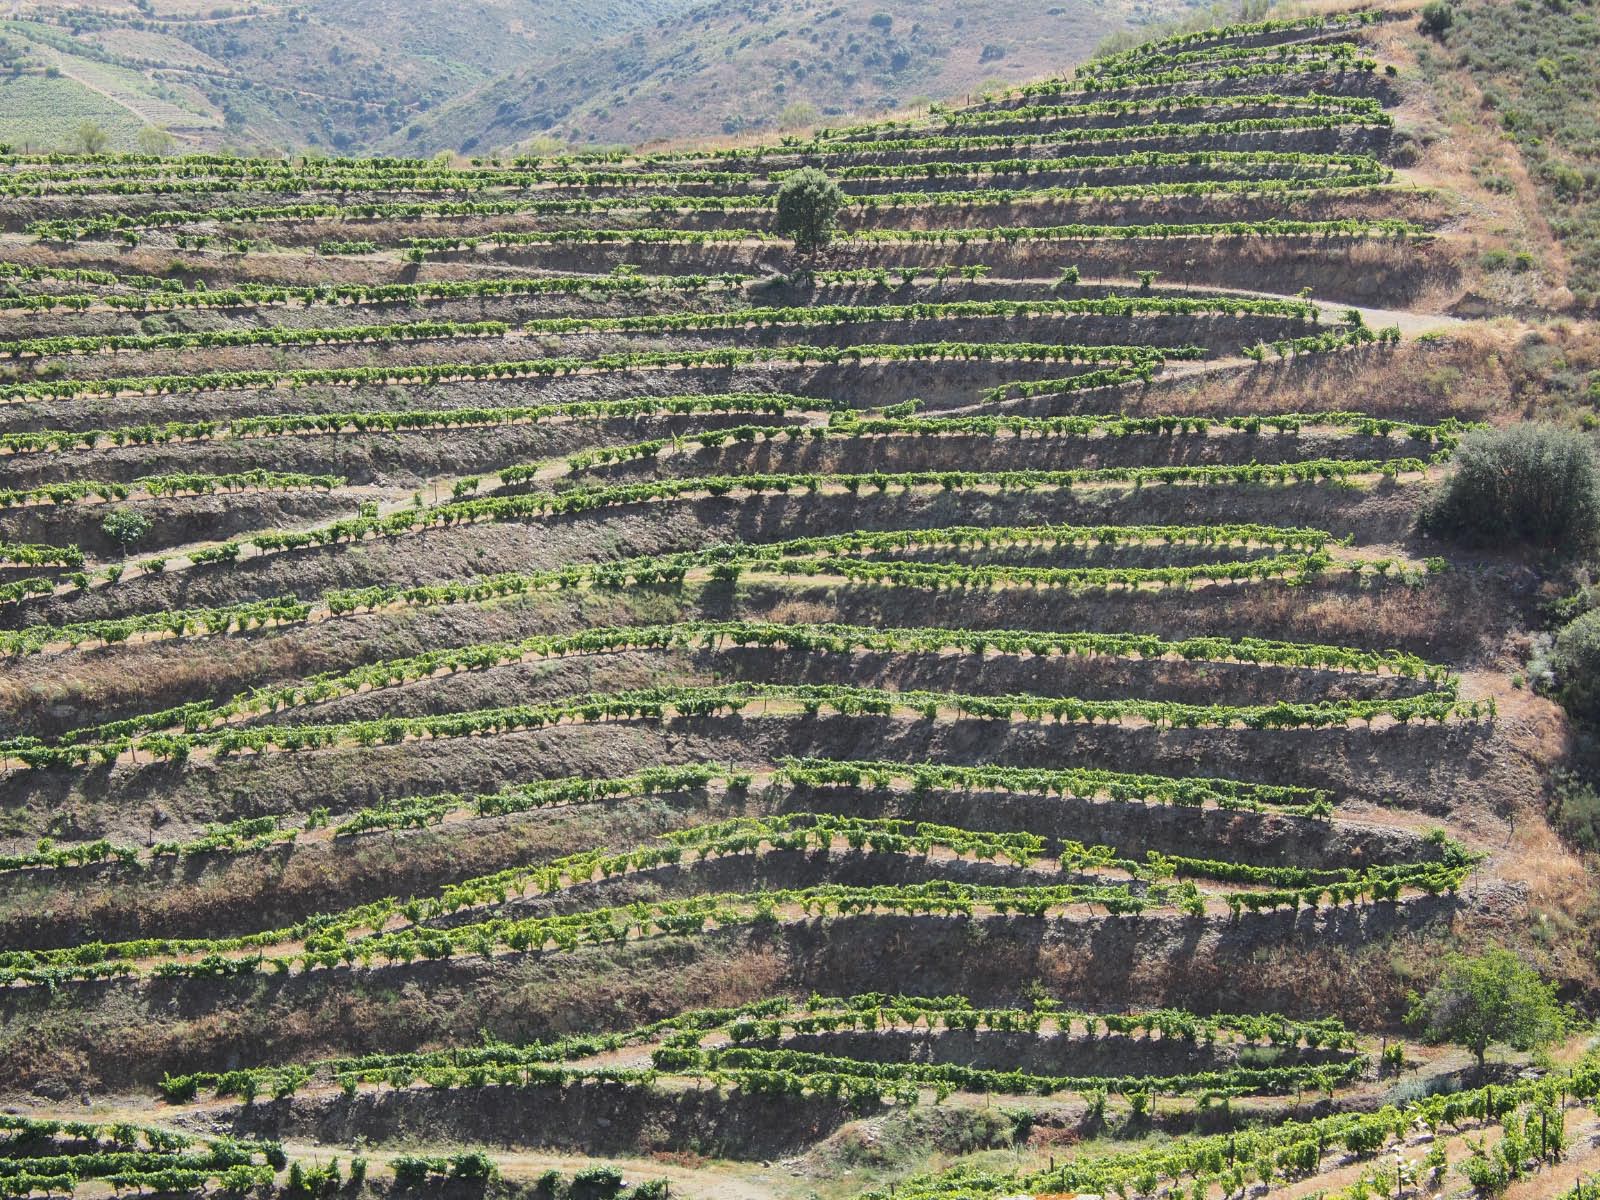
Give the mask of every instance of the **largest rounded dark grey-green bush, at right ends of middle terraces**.
M 1478 544 L 1592 550 L 1600 470 L 1589 438 L 1533 422 L 1469 434 L 1456 450 L 1456 474 L 1422 512 L 1422 528 Z

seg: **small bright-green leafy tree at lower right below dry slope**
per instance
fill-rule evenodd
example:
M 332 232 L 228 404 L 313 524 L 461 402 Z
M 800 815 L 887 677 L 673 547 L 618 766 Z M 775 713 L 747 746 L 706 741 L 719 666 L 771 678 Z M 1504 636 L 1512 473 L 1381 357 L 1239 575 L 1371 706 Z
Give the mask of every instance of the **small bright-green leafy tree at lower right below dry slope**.
M 1454 1042 L 1478 1059 L 1494 1043 L 1539 1050 L 1562 1035 L 1565 1018 L 1555 989 L 1510 950 L 1475 958 L 1451 955 L 1427 995 L 1413 1000 L 1406 1021 L 1429 1042 Z

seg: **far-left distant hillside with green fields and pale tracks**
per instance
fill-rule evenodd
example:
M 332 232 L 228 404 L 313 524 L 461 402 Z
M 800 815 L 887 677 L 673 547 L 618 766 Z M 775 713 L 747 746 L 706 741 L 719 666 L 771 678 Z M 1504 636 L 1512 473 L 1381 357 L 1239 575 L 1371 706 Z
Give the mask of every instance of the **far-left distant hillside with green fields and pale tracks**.
M 62 146 L 75 122 L 99 120 L 117 147 L 142 125 L 192 147 L 371 152 L 435 106 L 594 42 L 651 27 L 683 0 L 304 0 L 200 8 L 182 0 L 11 5 L 0 37 L 53 67 L 5 136 Z M 0 72 L 5 64 L 0 62 Z M 70 101 L 74 122 L 34 94 Z M 149 107 L 144 120 L 142 114 Z M 131 125 L 130 125 L 131 122 Z

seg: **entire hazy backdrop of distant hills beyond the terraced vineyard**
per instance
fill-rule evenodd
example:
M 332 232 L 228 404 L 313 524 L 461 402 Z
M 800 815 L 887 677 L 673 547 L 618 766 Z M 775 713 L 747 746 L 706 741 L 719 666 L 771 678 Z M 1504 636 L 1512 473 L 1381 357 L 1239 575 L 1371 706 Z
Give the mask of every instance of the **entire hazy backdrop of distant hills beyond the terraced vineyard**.
M 872 115 L 1056 72 L 1190 0 L 80 0 L 0 6 L 0 139 L 434 154 Z M 149 134 L 147 134 L 149 136 Z

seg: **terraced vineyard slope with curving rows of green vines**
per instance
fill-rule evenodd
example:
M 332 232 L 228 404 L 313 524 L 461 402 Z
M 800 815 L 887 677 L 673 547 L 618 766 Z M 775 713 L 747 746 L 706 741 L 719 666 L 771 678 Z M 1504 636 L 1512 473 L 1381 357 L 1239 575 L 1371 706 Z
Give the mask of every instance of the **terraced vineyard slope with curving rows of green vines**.
M 1522 402 L 1413 29 L 768 146 L 0 160 L 0 1194 L 1558 1157 L 1592 1062 L 1403 1037 L 1574 869 L 1526 589 L 1416 533 Z

